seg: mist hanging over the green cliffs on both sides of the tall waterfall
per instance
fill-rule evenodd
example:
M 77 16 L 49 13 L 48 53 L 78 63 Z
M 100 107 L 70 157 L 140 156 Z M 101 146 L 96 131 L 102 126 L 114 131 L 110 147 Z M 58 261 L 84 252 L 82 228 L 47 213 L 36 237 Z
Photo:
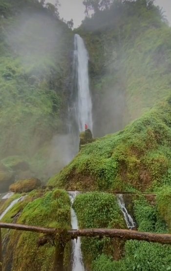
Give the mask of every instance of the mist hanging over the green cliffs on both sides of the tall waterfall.
M 149 99 L 143 97 L 149 92 L 149 86 L 156 88 L 149 76 L 153 76 L 153 67 L 162 67 L 165 63 L 162 49 L 149 52 L 157 43 L 158 29 L 163 22 L 158 20 L 155 9 L 149 10 L 145 18 L 140 16 L 141 10 L 135 2 L 129 4 L 131 10 L 127 4 L 122 4 L 120 9 L 113 6 L 99 10 L 77 29 L 89 55 L 95 137 L 122 130 L 156 102 L 152 94 Z M 140 36 L 137 30 L 137 25 L 141 29 L 144 23 L 154 28 L 151 27 L 148 43 L 148 33 Z M 110 34 L 107 27 L 112 29 Z M 76 93 L 74 88 L 79 85 L 72 81 L 74 33 L 46 9 L 24 10 L 4 32 L 1 159 L 22 157 L 30 165 L 30 175 L 43 181 L 67 165 L 79 149 L 78 123 L 73 125 L 72 132 L 68 129 L 68 122 L 72 123 L 68 105 L 75 104 L 71 92 Z M 158 71 L 160 80 L 156 84 L 162 86 L 164 79 Z M 83 129 L 85 123 L 81 124 Z

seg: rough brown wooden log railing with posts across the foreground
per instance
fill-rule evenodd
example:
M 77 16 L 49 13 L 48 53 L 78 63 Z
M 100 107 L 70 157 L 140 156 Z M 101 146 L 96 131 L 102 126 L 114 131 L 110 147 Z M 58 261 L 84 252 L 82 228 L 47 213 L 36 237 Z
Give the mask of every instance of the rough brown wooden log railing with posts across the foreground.
M 171 234 L 156 234 L 150 232 L 138 232 L 133 230 L 123 230 L 123 229 L 108 229 L 108 228 L 92 228 L 92 229 L 77 229 L 77 230 L 62 230 L 56 228 L 44 228 L 37 226 L 13 224 L 13 223 L 2 223 L 0 222 L 0 229 L 14 229 L 21 231 L 30 231 L 44 233 L 48 235 L 58 234 L 58 238 L 63 238 L 63 234 L 67 234 L 67 238 L 76 239 L 79 236 L 85 237 L 110 237 L 110 238 L 121 238 L 123 240 L 138 240 L 147 241 L 160 244 L 171 245 Z M 69 240 L 67 239 L 67 241 Z M 59 239 L 60 241 L 60 239 Z M 60 242 L 61 243 L 61 242 Z M 62 252 L 64 252 L 64 244 L 60 244 L 60 247 L 56 249 L 55 261 L 54 261 L 54 271 L 58 270 L 59 258 Z M 2 271 L 2 242 L 1 242 L 1 232 L 0 232 L 0 271 Z

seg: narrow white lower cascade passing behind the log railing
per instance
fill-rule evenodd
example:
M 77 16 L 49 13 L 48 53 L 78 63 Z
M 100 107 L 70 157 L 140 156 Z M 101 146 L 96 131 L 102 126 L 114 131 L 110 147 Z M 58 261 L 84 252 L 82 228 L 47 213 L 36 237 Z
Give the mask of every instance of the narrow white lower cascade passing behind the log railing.
M 71 200 L 71 204 L 73 204 L 75 197 L 79 194 L 79 192 L 68 192 Z M 71 226 L 72 229 L 78 229 L 78 220 L 74 209 L 71 206 Z M 78 239 L 72 240 L 72 271 L 85 271 L 82 252 L 81 252 L 81 240 L 80 237 Z

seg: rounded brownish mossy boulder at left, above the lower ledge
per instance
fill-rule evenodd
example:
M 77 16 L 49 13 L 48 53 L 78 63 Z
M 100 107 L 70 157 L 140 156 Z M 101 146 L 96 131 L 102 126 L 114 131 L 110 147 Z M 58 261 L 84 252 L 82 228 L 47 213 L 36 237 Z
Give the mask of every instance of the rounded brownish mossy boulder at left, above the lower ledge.
M 31 178 L 11 184 L 9 190 L 15 193 L 30 192 L 36 188 L 39 188 L 41 184 L 42 183 L 39 179 Z

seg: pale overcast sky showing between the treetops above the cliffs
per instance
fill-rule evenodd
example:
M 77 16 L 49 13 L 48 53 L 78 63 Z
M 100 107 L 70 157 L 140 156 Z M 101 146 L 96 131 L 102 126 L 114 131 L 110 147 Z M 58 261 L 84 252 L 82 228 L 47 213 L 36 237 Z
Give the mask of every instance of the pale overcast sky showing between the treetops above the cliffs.
M 48 2 L 55 3 L 55 0 L 47 0 Z M 83 0 L 60 0 L 61 7 L 60 17 L 64 20 L 74 20 L 74 27 L 81 25 L 81 21 L 84 19 L 84 5 Z M 163 10 L 166 11 L 165 15 L 171 24 L 171 0 L 155 0 L 155 3 Z

